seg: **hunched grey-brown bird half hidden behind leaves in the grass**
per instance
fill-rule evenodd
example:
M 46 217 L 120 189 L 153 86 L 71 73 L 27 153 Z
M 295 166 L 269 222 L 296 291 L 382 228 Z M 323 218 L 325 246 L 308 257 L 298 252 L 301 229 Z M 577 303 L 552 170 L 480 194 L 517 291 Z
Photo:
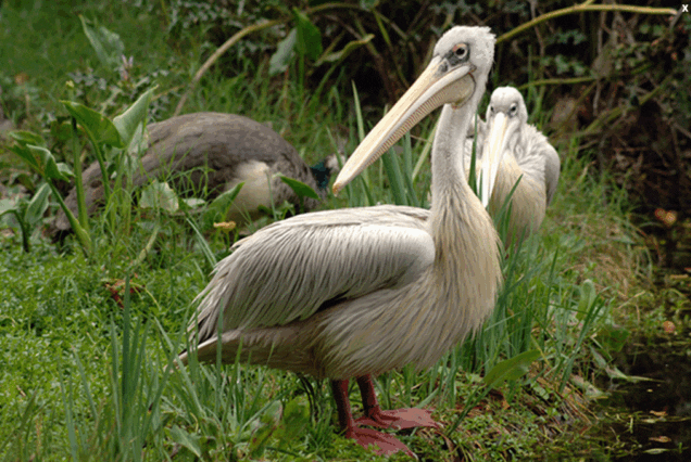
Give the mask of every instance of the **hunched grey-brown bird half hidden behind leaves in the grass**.
M 227 217 L 238 224 L 244 223 L 248 216 L 257 218 L 260 206 L 271 208 L 272 204 L 280 205 L 285 201 L 294 204 L 299 211 L 317 206 L 319 201 L 312 197 L 301 201 L 275 174 L 300 180 L 325 197 L 330 172 L 338 169 L 335 156 L 309 167 L 278 133 L 240 115 L 192 113 L 150 124 L 147 130 L 149 147 L 141 157 L 141 167 L 133 175 L 134 185 L 169 177 L 178 194 L 213 198 L 244 182 Z M 98 162 L 84 171 L 89 214 L 96 213 L 103 200 L 101 178 Z M 65 203 L 76 215 L 75 188 Z M 70 229 L 67 217 L 60 210 L 51 231 L 59 233 Z

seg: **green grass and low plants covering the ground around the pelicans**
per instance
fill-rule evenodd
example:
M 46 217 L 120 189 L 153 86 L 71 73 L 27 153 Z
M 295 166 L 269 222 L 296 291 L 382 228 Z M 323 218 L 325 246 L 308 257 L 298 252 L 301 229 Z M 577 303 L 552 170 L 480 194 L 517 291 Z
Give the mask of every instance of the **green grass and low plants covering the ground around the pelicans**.
M 41 114 L 65 115 L 56 102 L 79 93 L 71 97 L 64 87 L 67 73 L 86 75 L 93 66 L 93 73 L 108 74 L 105 90 L 76 89 L 79 101 L 109 116 L 148 88 L 99 67 L 75 10 L 5 3 L 2 34 L 18 40 L 12 46 L 0 40 L 10 63 L 2 76 L 25 72 L 37 88 L 28 111 L 17 103 L 21 98 L 9 100 L 17 120 L 27 117 L 26 126 L 46 127 Z M 121 35 L 126 54 L 135 55 L 138 77 L 169 70 L 158 79 L 165 94 L 153 104 L 155 117 L 169 116 L 180 91 L 166 91 L 186 84 L 198 66 L 203 30 L 173 36 L 165 18 L 153 13 L 86 4 L 78 12 Z M 332 152 L 332 139 L 343 132 L 346 152 L 352 152 L 359 126 L 361 132 L 368 128 L 359 120 L 352 94 L 334 88 L 318 100 L 305 99 L 292 79 L 268 79 L 266 66 L 266 61 L 244 62 L 235 76 L 210 73 L 186 111 L 272 121 L 307 163 Z M 123 91 L 104 104 L 113 88 Z M 533 117 L 541 119 L 536 111 Z M 373 165 L 365 180 L 325 207 L 378 201 L 425 205 L 428 163 L 415 179 L 415 192 L 407 187 L 432 126 L 434 118 L 426 120 L 415 131 L 422 139 L 401 143 L 401 157 L 388 158 L 388 167 Z M 71 145 L 56 151 L 71 158 Z M 593 358 L 610 358 L 626 337 L 615 308 L 629 297 L 645 260 L 628 224 L 626 196 L 606 177 L 592 175 L 575 145 L 562 150 L 562 179 L 541 232 L 503 262 L 504 290 L 485 330 L 429 370 L 409 367 L 377 380 L 382 406 L 431 407 L 444 424 L 441 432 L 399 433 L 423 460 L 535 460 L 546 453 L 607 460 L 612 454 L 607 441 L 587 433 L 593 420 L 587 397 L 596 392 L 593 377 L 605 374 Z M 2 161 L 21 169 L 8 157 Z M 159 238 L 133 269 L 154 229 Z M 185 348 L 192 300 L 210 280 L 210 260 L 227 255 L 226 239 L 212 236 L 211 254 L 204 255 L 183 217 L 139 209 L 114 226 L 93 218 L 91 232 L 90 259 L 74 240 L 58 248 L 35 232 L 26 254 L 18 235 L 0 238 L 0 460 L 382 459 L 335 432 L 326 381 L 194 361 L 165 372 Z M 503 362 L 530 350 L 539 359 L 523 371 Z M 482 382 L 490 371 L 507 374 L 491 389 Z

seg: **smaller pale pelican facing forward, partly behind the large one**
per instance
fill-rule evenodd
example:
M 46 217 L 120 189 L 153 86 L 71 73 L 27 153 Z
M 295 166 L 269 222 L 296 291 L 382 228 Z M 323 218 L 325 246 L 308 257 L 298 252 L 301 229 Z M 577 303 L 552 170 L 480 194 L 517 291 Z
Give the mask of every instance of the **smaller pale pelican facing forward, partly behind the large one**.
M 480 165 L 487 162 L 498 167 L 493 189 L 483 192 L 486 196 L 491 192 L 490 215 L 500 211 L 518 183 L 511 197 L 508 245 L 537 231 L 542 223 L 560 179 L 560 156 L 546 137 L 528 125 L 526 103 L 513 87 L 500 87 L 492 92 L 486 120 L 486 124 L 479 124 L 477 146 L 482 147 Z M 469 166 L 468 143 L 472 141 L 466 141 L 466 170 Z M 486 156 L 485 147 L 490 155 Z M 488 158 L 500 151 L 504 152 L 501 163 Z

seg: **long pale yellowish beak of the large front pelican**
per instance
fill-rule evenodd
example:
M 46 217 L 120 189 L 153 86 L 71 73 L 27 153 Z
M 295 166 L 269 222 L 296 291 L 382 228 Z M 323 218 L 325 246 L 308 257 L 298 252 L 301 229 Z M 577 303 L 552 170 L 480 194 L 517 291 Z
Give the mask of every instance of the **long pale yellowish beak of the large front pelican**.
M 334 183 L 338 194 L 367 166 L 381 156 L 426 115 L 443 104 L 463 105 L 475 91 L 472 64 L 447 70 L 448 64 L 436 56 L 415 84 L 372 129 L 349 157 Z

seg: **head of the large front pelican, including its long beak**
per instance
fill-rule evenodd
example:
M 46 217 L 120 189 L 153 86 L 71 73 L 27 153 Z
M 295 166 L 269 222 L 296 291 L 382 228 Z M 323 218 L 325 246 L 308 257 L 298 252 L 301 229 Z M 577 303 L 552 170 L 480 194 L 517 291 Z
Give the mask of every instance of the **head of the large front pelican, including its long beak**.
M 494 57 L 494 41 L 489 27 L 449 29 L 423 74 L 350 156 L 334 183 L 334 194 L 437 107 L 477 106 Z

